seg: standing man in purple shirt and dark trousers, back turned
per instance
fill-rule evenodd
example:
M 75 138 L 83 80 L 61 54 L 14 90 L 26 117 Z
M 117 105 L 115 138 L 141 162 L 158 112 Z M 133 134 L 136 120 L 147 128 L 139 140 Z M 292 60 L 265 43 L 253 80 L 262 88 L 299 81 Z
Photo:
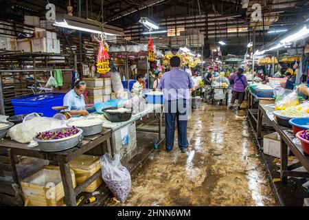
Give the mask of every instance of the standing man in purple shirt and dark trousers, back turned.
M 181 60 L 178 56 L 170 59 L 172 69 L 165 72 L 157 89 L 163 91 L 165 107 L 165 148 L 172 151 L 174 147 L 174 128 L 177 119 L 178 144 L 185 153 L 187 141 L 187 116 L 190 113 L 190 89 L 194 89 L 192 78 L 187 72 L 179 69 Z

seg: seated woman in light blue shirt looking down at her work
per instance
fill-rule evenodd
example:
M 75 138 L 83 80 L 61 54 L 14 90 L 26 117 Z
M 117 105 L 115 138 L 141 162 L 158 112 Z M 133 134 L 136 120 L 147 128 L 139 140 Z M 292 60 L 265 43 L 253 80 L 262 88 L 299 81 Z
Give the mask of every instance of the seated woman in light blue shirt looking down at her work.
M 73 117 L 78 117 L 80 115 L 88 115 L 86 110 L 86 102 L 84 101 L 84 91 L 86 91 L 86 83 L 82 80 L 76 81 L 74 84 L 74 89 L 71 89 L 63 99 L 63 105 L 69 107 L 67 111 Z

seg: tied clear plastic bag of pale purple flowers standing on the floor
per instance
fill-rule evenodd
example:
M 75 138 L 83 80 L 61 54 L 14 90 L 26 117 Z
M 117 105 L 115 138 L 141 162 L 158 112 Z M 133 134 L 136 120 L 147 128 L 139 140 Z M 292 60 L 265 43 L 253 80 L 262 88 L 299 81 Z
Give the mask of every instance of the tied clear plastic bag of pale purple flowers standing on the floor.
M 128 198 L 131 188 L 131 176 L 127 168 L 122 166 L 119 155 L 111 158 L 109 153 L 105 153 L 100 158 L 102 166 L 102 178 L 113 195 L 122 203 Z

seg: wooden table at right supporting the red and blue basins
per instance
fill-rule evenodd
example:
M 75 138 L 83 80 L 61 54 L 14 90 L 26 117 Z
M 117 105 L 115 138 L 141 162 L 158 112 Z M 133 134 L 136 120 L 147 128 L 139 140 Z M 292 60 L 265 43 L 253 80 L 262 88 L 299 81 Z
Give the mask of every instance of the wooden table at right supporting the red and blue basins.
M 277 124 L 275 120 L 272 118 L 273 111 L 275 111 L 271 107 L 267 107 L 267 104 L 259 104 L 258 109 L 258 138 L 262 138 L 262 117 L 265 116 L 267 118 L 275 131 L 279 133 L 281 137 L 281 166 L 280 173 L 282 182 L 286 183 L 288 177 L 309 177 L 308 172 L 295 171 L 294 169 L 304 166 L 307 171 L 309 171 L 309 155 L 306 155 L 301 147 L 295 145 L 293 143 L 293 131 L 287 127 L 280 126 Z M 299 159 L 299 163 L 288 166 L 288 147 L 290 151 L 293 152 L 295 157 Z M 294 170 L 294 171 L 293 171 Z

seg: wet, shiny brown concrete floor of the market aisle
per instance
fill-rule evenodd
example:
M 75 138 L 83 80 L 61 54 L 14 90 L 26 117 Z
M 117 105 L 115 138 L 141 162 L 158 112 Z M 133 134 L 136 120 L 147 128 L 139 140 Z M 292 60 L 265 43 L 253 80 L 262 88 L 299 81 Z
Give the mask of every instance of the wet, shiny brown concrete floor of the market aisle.
M 126 203 L 107 206 L 277 206 L 243 111 L 203 104 L 187 137 L 192 151 L 162 146 L 133 173 Z

